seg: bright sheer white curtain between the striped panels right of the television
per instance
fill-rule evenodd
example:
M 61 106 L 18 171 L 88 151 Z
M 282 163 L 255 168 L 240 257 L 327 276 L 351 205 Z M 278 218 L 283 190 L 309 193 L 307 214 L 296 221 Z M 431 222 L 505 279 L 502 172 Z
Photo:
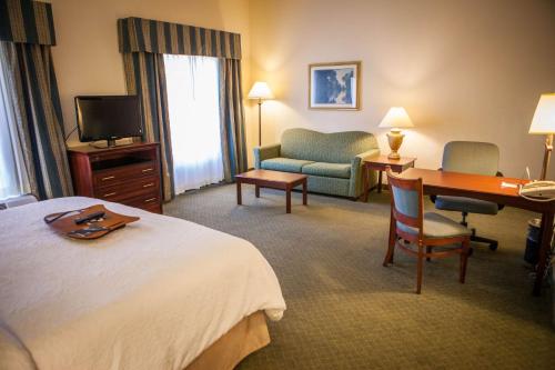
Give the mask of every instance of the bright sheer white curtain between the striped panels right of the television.
M 164 56 L 175 193 L 223 180 L 218 58 Z

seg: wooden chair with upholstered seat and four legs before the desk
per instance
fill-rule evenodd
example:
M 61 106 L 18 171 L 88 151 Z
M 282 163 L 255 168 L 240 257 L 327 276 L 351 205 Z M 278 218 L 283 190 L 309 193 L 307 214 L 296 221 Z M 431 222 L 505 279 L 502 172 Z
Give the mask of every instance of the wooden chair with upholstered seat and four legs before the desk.
M 390 242 L 383 266 L 393 263 L 395 247 L 416 256 L 416 293 L 421 293 L 424 258 L 445 258 L 461 254 L 460 278 L 464 283 L 466 261 L 470 253 L 471 231 L 444 216 L 424 213 L 422 179 L 397 178 L 387 168 L 391 191 Z M 415 246 L 416 248 L 414 248 Z M 442 250 L 434 251 L 435 248 Z

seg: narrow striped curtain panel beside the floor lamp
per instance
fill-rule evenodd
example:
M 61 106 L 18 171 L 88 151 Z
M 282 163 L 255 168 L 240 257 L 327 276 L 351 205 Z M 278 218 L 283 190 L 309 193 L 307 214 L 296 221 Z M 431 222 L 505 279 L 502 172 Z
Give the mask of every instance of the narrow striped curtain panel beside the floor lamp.
M 220 110 L 224 179 L 230 182 L 248 169 L 240 60 L 221 59 Z

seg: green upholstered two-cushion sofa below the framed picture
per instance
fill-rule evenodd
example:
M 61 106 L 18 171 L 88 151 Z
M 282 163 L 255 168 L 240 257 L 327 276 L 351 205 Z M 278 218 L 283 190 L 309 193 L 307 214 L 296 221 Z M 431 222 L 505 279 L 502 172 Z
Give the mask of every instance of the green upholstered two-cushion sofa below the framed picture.
M 304 173 L 309 191 L 350 198 L 363 193 L 363 159 L 379 154 L 375 137 L 362 131 L 290 129 L 280 144 L 254 148 L 256 169 Z M 370 183 L 375 183 L 375 173 Z

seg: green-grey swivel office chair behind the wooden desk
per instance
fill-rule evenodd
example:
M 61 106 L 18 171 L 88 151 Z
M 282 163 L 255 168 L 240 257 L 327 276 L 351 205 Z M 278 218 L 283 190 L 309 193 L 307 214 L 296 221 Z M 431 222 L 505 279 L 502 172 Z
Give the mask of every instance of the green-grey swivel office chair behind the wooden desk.
M 503 176 L 497 171 L 498 166 L 500 149 L 494 143 L 451 141 L 443 149 L 441 170 L 444 171 Z M 468 227 L 466 221 L 468 213 L 497 214 L 503 209 L 501 204 L 472 198 L 447 196 L 431 196 L 430 198 L 437 209 L 461 212 L 463 214 L 461 224 L 465 227 Z M 476 229 L 474 228 L 471 231 L 472 241 L 488 243 L 491 250 L 497 249 L 498 243 L 496 240 L 476 236 Z

